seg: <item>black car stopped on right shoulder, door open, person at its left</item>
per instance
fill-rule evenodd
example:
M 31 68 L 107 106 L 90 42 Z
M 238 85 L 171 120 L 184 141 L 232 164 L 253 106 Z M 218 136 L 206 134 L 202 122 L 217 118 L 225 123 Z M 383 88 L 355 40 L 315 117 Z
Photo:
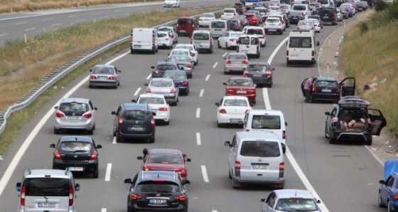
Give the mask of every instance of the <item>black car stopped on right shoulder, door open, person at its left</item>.
M 308 79 L 308 78 L 307 78 Z M 304 85 L 307 79 L 301 83 L 301 91 L 306 97 Z M 340 83 L 335 78 L 318 77 L 313 79 L 313 86 L 310 90 L 309 102 L 316 100 L 338 102 L 340 97 L 355 95 L 355 78 L 345 78 Z

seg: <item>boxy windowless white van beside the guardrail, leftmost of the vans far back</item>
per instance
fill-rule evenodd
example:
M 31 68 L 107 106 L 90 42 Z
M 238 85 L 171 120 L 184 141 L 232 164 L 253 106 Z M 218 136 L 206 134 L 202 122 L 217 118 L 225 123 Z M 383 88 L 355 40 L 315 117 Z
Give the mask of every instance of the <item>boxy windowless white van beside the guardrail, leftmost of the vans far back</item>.
M 133 28 L 131 31 L 130 52 L 158 52 L 158 30 L 156 28 Z

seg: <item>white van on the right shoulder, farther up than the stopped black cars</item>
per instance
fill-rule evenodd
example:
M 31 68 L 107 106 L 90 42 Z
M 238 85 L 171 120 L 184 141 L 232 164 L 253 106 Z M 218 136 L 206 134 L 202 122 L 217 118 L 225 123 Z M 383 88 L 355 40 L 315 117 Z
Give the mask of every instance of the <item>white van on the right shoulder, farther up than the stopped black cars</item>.
M 315 41 L 311 31 L 291 31 L 286 46 L 287 66 L 294 63 L 306 63 L 312 66 L 316 64 L 316 46 L 319 46 L 319 41 Z

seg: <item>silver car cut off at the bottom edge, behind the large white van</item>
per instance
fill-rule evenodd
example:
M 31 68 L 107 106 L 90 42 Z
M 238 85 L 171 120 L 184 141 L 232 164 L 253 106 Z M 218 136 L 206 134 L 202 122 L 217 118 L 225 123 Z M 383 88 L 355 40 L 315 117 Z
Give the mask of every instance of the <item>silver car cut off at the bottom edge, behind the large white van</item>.
M 321 203 L 321 200 L 307 190 L 274 190 L 269 194 L 268 198 L 262 198 L 261 201 L 264 202 L 262 212 L 321 211 L 318 207 L 318 203 Z

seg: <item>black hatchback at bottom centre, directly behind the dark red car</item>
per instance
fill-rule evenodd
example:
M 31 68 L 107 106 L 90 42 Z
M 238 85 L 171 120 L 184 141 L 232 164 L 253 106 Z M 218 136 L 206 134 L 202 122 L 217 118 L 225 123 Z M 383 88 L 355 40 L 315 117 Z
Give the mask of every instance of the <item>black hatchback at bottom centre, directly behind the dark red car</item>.
M 129 184 L 127 211 L 188 211 L 188 192 L 176 171 L 139 171 Z

